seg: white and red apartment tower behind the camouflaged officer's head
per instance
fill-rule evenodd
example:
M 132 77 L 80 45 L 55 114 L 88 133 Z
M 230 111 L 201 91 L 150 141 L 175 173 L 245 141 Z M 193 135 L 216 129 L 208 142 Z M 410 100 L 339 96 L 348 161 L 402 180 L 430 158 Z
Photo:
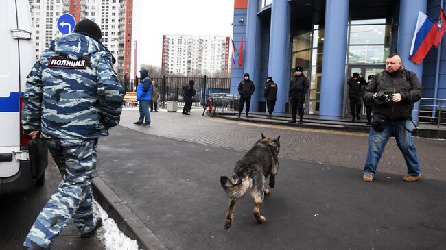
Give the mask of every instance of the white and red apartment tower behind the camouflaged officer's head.
M 36 58 L 49 42 L 62 36 L 59 16 L 69 13 L 76 21 L 88 18 L 101 27 L 102 43 L 115 56 L 119 77 L 130 76 L 132 56 L 132 0 L 30 0 Z

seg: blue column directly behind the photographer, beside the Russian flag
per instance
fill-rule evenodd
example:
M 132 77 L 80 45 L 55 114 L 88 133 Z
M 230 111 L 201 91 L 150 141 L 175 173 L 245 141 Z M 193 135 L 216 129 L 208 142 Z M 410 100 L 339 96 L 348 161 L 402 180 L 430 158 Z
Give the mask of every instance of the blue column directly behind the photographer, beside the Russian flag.
M 414 71 L 416 76 L 423 82 L 423 62 L 416 64 L 409 60 L 410 47 L 418 19 L 418 12 L 426 13 L 427 0 L 404 0 L 399 3 L 399 34 L 398 53 L 401 55 L 403 65 L 410 71 Z M 418 103 L 415 103 L 414 110 L 418 110 Z M 412 112 L 414 121 L 418 120 L 416 112 Z

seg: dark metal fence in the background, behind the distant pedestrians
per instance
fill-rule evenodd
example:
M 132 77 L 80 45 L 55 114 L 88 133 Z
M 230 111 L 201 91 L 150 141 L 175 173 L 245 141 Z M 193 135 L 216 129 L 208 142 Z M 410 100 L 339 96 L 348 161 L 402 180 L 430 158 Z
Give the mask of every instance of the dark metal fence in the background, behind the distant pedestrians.
M 196 90 L 193 106 L 199 107 L 206 102 L 205 95 L 213 93 L 229 93 L 231 88 L 231 78 L 208 78 L 204 77 L 153 77 L 152 82 L 159 89 L 159 105 L 166 105 L 167 101 L 178 101 L 178 105 L 184 105 L 183 86 L 189 84 L 193 79 Z M 137 79 L 119 79 L 127 92 L 137 90 Z

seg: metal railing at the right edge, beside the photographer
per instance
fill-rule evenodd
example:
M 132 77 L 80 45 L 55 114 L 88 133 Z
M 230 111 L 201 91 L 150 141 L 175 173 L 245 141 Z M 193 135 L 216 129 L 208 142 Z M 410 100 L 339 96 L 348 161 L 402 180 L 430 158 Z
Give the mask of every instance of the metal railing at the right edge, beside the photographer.
M 430 124 L 437 129 L 446 127 L 446 99 L 421 98 L 418 106 L 419 124 Z

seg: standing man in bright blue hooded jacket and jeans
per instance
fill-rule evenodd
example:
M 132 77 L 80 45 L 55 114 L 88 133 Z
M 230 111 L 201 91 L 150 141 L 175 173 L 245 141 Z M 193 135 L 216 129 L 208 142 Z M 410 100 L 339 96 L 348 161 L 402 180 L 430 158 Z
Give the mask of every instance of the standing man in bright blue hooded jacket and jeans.
M 141 74 L 141 82 L 138 84 L 137 88 L 137 101 L 139 101 L 139 119 L 133 124 L 144 125 L 150 127 L 150 112 L 149 105 L 152 101 L 152 80 L 150 79 L 149 73 L 145 69 L 139 71 Z M 145 123 L 144 122 L 145 117 Z

